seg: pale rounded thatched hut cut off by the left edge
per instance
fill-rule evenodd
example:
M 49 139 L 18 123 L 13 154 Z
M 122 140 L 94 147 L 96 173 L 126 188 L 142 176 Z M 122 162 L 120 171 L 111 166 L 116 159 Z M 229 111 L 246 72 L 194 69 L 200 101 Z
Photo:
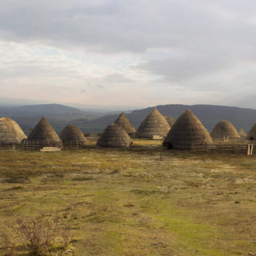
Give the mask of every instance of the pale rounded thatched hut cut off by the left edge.
M 9 117 L 0 118 L 0 142 L 22 142 L 27 136 L 19 125 Z

